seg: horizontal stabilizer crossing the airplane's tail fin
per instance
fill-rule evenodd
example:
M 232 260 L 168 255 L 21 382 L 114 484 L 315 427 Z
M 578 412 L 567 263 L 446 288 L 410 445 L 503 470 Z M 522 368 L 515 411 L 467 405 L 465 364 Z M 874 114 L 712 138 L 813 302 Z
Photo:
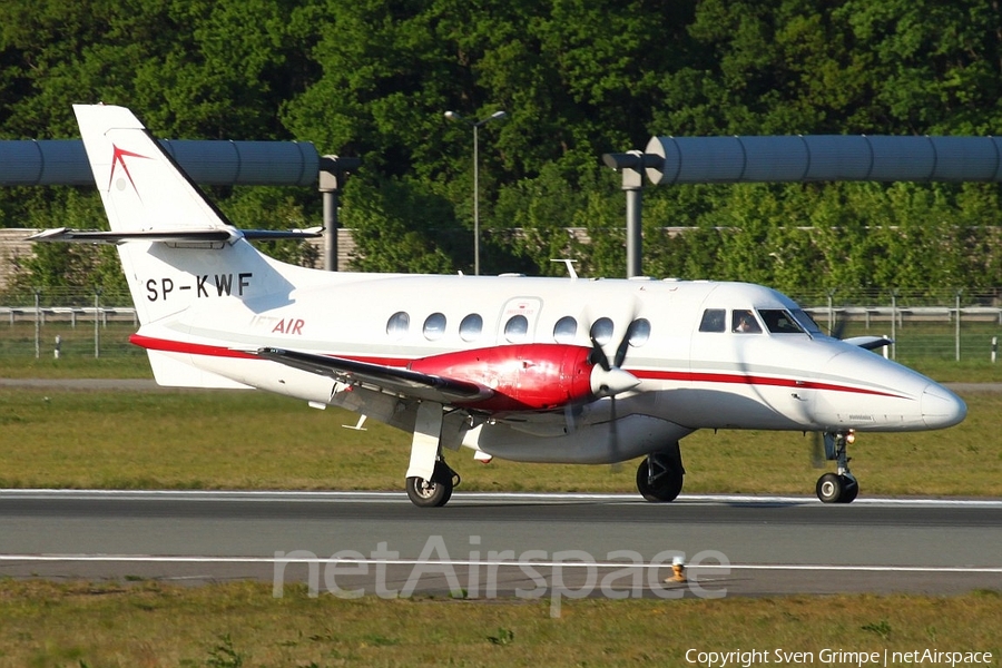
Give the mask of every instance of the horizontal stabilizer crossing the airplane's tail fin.
M 106 232 L 102 229 L 71 229 L 57 227 L 42 229 L 26 240 L 66 242 L 78 244 L 122 244 L 126 242 L 227 242 L 239 238 L 248 240 L 304 239 L 321 236 L 323 228 L 308 229 L 237 229 L 235 227 L 171 229 L 141 229 L 136 232 Z

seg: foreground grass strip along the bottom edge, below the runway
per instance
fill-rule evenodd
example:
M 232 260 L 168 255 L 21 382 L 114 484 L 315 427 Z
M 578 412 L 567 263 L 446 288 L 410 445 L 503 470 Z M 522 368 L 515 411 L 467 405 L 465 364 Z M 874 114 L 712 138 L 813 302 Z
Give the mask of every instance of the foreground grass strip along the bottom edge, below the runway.
M 0 581 L 0 667 L 686 666 L 686 651 L 991 651 L 1002 596 L 587 599 L 311 599 L 238 582 Z M 963 620 L 961 622 L 961 620 Z M 737 664 L 740 665 L 739 662 Z M 759 662 L 758 665 L 763 665 Z M 792 665 L 792 664 L 789 664 Z M 829 664 L 831 665 L 831 664 Z M 835 665 L 844 665 L 842 662 Z M 855 665 L 855 664 L 853 664 Z

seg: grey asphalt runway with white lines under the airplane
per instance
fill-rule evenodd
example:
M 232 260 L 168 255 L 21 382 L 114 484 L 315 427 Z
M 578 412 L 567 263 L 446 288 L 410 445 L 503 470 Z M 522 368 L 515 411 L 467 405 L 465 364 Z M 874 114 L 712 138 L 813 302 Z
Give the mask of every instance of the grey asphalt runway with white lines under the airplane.
M 676 559 L 686 582 L 666 582 Z M 0 576 L 338 595 L 677 598 L 1002 589 L 1002 501 L 0 491 Z M 347 593 L 346 593 L 347 592 Z

